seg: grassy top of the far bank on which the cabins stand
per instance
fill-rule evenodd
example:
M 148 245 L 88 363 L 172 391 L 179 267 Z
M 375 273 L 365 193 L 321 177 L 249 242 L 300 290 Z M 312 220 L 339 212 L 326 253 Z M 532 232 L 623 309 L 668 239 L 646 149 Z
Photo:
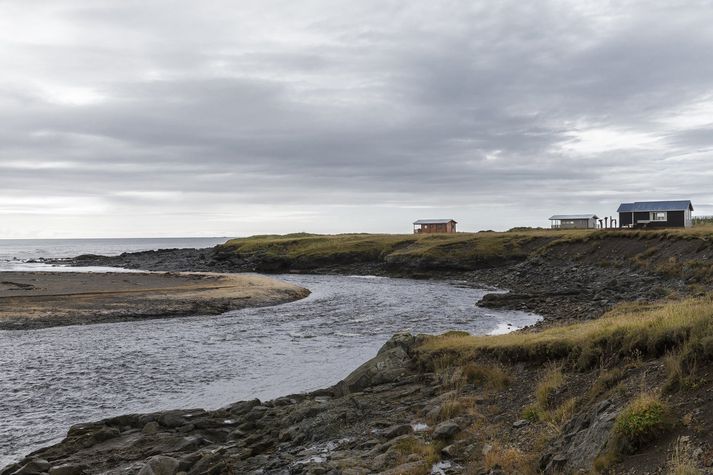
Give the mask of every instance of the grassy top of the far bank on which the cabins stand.
M 514 230 L 457 234 L 287 234 L 233 239 L 224 256 L 258 268 L 311 269 L 353 264 L 391 268 L 472 270 L 531 256 L 632 263 L 665 274 L 713 278 L 699 254 L 713 248 L 713 226 L 664 230 Z M 621 263 L 620 262 L 620 263 Z

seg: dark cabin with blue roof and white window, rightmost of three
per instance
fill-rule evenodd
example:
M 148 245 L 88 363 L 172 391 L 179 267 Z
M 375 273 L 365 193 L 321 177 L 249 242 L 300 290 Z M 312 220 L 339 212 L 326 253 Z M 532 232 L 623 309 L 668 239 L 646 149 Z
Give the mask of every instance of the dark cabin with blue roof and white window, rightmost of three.
M 622 203 L 617 210 L 622 228 L 690 228 L 693 204 L 690 200 L 638 201 Z

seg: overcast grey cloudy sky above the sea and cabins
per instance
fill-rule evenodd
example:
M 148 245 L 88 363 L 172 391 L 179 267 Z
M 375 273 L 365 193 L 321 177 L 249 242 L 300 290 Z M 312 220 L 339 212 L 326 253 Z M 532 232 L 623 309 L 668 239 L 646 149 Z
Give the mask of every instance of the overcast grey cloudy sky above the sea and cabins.
M 0 0 L 0 238 L 713 214 L 713 2 Z

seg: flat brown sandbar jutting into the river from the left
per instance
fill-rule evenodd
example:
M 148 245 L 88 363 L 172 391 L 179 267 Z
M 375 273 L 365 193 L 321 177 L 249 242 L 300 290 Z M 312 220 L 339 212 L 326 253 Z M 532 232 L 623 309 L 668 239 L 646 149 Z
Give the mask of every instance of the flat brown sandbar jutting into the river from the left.
M 0 330 L 215 315 L 308 294 L 258 275 L 3 272 Z

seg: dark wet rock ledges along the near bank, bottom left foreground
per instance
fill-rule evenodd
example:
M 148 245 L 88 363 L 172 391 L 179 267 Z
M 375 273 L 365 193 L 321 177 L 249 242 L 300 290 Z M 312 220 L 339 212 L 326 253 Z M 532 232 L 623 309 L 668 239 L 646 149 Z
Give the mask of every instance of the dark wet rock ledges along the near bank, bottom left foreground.
M 433 375 L 415 371 L 415 342 L 398 335 L 344 381 L 310 394 L 73 426 L 61 443 L 0 474 L 403 473 L 412 462 L 385 471 L 400 444 L 449 441 L 467 422 L 431 432 L 421 413 L 445 399 Z

